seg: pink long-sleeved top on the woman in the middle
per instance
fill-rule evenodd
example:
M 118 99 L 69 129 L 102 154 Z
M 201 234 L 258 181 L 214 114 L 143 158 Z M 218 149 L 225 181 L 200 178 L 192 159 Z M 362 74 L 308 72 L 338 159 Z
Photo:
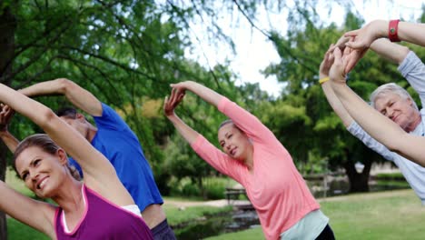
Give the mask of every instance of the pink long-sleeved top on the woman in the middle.
M 193 150 L 222 174 L 245 187 L 266 238 L 280 239 L 283 232 L 320 205 L 293 164 L 291 155 L 272 131 L 226 97 L 221 99 L 218 109 L 252 140 L 253 174 L 203 135 L 193 142 Z

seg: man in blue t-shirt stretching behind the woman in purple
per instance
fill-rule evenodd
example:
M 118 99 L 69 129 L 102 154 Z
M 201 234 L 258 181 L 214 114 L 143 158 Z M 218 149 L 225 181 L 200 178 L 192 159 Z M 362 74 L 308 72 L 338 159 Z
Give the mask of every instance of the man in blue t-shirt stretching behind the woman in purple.
M 95 125 L 88 122 L 84 115 L 77 113 L 74 108 L 64 108 L 57 113 L 114 165 L 116 174 L 133 196 L 144 221 L 151 228 L 153 237 L 175 239 L 173 230 L 166 221 L 162 207 L 163 198 L 154 182 L 151 166 L 143 155 L 142 146 L 137 136 L 114 109 L 101 103 L 81 86 L 64 78 L 31 85 L 20 92 L 27 96 L 65 95 L 73 105 L 92 115 Z M 4 118 L 2 116 L 0 119 L 0 137 L 14 151 L 17 140 L 8 134 L 7 128 L 2 127 L 2 124 L 6 125 L 2 123 L 5 121 Z M 82 175 L 81 168 L 74 159 L 69 160 Z

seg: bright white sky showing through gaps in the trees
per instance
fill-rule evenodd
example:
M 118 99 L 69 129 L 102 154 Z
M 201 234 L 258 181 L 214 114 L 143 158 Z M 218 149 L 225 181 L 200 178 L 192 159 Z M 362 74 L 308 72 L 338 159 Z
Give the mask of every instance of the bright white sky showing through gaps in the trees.
M 345 0 L 348 1 L 348 0 Z M 291 2 L 291 0 L 288 0 Z M 328 7 L 324 4 L 326 0 L 321 0 L 321 4 L 317 12 L 321 19 L 329 19 L 329 22 L 334 22 L 337 25 L 343 22 L 345 11 L 340 5 L 333 5 L 331 14 Z M 342 0 L 344 2 L 344 0 Z M 352 0 L 354 11 L 363 16 L 366 23 L 374 19 L 399 19 L 403 18 L 406 21 L 415 21 L 421 14 L 421 5 L 425 4 L 425 0 Z M 284 33 L 287 30 L 286 23 L 287 12 L 283 11 L 280 14 L 266 13 L 261 10 L 258 15 L 256 25 L 265 30 L 278 30 Z M 243 83 L 260 83 L 262 90 L 269 94 L 280 95 L 282 84 L 278 84 L 275 77 L 265 78 L 261 71 L 272 63 L 279 63 L 280 56 L 277 54 L 274 46 L 260 31 L 252 29 L 251 25 L 243 18 L 234 23 L 235 19 L 230 19 L 230 16 L 223 16 L 221 20 L 224 32 L 230 35 L 234 41 L 236 50 L 235 53 L 230 48 L 224 45 L 209 45 L 206 35 L 202 35 L 203 30 L 199 25 L 193 25 L 193 37 L 199 39 L 198 45 L 192 51 L 186 52 L 186 55 L 195 59 L 200 64 L 205 66 L 213 66 L 218 63 L 225 63 L 227 59 L 230 63 L 230 69 L 238 75 L 236 85 Z M 272 23 L 272 24 L 271 24 Z M 198 41 L 198 40 L 195 40 Z

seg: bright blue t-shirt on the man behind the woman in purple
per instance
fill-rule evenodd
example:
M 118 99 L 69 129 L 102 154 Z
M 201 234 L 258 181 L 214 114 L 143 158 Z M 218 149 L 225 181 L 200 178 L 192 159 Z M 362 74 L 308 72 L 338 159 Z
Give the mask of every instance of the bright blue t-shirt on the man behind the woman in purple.
M 94 116 L 97 133 L 92 145 L 114 165 L 116 174 L 141 211 L 148 205 L 162 205 L 163 198 L 137 136 L 114 109 L 104 103 L 102 108 L 102 116 Z M 82 175 L 75 160 L 70 157 L 69 162 Z

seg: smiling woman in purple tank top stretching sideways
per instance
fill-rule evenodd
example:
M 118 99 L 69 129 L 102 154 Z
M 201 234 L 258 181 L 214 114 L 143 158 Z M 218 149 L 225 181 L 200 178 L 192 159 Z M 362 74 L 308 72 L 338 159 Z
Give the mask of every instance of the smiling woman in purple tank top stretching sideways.
M 50 108 L 5 85 L 0 102 L 1 117 L 15 109 L 47 134 L 25 138 L 15 149 L 14 167 L 35 195 L 57 204 L 20 195 L 0 181 L 0 211 L 52 239 L 153 239 L 142 216 L 133 214 L 140 210 L 127 210 L 134 202 L 113 165 L 83 135 Z M 81 165 L 84 182 L 74 178 L 65 151 Z

